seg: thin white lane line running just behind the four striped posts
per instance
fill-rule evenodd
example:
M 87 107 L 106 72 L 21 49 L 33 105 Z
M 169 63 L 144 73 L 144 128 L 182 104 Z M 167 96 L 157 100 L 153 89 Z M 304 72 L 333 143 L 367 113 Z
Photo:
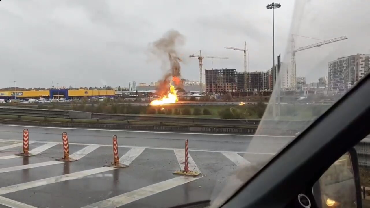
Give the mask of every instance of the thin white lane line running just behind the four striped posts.
M 6 140 L 6 141 L 19 141 L 19 140 Z M 55 143 L 61 144 L 62 142 L 48 142 L 48 141 L 35 141 L 38 143 Z M 112 147 L 110 144 L 85 144 L 85 143 L 69 143 L 73 145 L 100 145 L 103 147 Z M 152 150 L 183 150 L 179 148 L 168 148 L 168 147 L 145 147 L 145 146 L 126 146 L 126 145 L 118 145 L 118 147 L 127 147 L 127 148 L 144 148 L 144 149 L 152 149 Z M 235 153 L 242 153 L 242 154 L 256 154 L 256 155 L 275 155 L 275 152 L 243 152 L 243 151 L 221 151 L 221 150 L 203 150 L 203 149 L 189 149 L 189 151 L 198 151 L 198 152 L 235 152 Z

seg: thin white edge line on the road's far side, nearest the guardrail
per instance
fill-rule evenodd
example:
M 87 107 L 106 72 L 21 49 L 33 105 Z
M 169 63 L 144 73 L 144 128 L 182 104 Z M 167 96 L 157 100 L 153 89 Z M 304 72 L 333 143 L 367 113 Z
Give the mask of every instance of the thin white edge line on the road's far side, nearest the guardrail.
M 250 135 L 250 134 L 208 134 L 208 133 L 191 133 L 191 132 L 133 131 L 133 130 L 114 130 L 114 129 L 98 129 L 98 128 L 41 127 L 41 126 L 9 125 L 9 124 L 0 124 L 0 126 L 73 129 L 73 130 L 88 130 L 88 131 L 121 131 L 121 132 L 141 132 L 141 133 L 160 133 L 160 134 L 198 134 L 198 135 L 223 135 L 223 136 L 242 136 L 242 137 L 295 137 L 295 136 L 271 136 L 271 135 Z

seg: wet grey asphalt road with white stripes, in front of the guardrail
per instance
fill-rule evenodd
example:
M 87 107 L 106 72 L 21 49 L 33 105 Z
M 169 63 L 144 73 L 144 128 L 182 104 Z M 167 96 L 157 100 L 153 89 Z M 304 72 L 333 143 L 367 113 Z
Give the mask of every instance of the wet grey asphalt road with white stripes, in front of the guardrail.
M 24 128 L 28 128 L 30 142 L 33 142 L 30 151 L 42 151 L 33 157 L 9 158 L 22 150 L 21 146 L 13 146 L 21 142 Z M 80 157 L 78 161 L 54 162 L 63 156 L 63 131 L 68 133 L 71 157 Z M 127 168 L 102 167 L 113 161 L 114 134 L 118 136 L 121 162 L 127 162 Z M 197 178 L 173 174 L 181 163 L 175 152 L 184 149 L 185 139 L 189 140 L 189 166 L 201 172 Z M 289 137 L 258 139 L 263 141 L 265 153 L 269 154 L 256 154 L 260 151 L 248 148 L 250 135 L 0 125 L 0 150 L 3 148 L 0 151 L 0 207 L 7 207 L 6 203 L 11 202 L 24 203 L 12 204 L 17 208 L 26 208 L 26 205 L 39 208 L 171 207 L 214 199 L 238 162 L 266 161 L 291 140 Z M 78 154 L 74 154 L 76 152 Z

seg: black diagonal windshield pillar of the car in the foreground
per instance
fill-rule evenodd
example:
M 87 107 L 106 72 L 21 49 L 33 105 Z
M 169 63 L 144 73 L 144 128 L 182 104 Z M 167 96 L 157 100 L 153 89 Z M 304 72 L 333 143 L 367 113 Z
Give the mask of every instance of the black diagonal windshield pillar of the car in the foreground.
M 275 155 L 221 207 L 285 207 L 369 134 L 370 74 Z

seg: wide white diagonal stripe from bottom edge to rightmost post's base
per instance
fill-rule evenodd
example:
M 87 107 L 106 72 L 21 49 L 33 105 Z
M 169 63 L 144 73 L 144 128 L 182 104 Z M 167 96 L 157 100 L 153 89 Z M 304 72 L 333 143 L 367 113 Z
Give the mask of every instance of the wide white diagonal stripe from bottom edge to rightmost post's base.
M 182 184 L 186 184 L 188 182 L 197 180 L 198 178 L 194 177 L 176 177 L 176 178 L 171 178 L 166 181 L 159 182 L 157 184 L 152 184 L 147 187 L 139 188 L 134 191 L 130 191 L 109 199 L 105 199 L 100 202 L 96 202 L 91 205 L 87 205 L 86 207 L 83 208 L 116 208 L 116 207 L 121 207 L 125 204 L 128 204 L 133 201 L 137 201 L 139 199 L 149 197 L 153 194 L 157 194 L 162 191 L 166 191 L 168 189 L 177 187 Z

